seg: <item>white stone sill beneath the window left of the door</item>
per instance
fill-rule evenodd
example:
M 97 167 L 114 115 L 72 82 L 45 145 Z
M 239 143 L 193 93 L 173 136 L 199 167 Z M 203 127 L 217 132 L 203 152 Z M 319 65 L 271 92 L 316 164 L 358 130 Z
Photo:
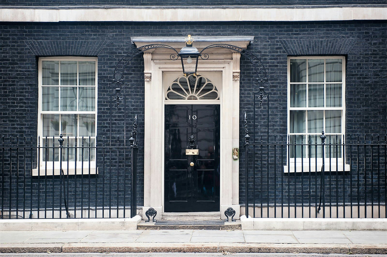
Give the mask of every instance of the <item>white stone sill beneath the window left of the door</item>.
M 59 162 L 43 164 L 36 169 L 32 170 L 32 176 L 52 176 L 60 175 L 60 164 Z M 92 175 L 98 174 L 98 168 L 96 167 L 96 162 L 77 162 L 77 168 L 75 169 L 75 162 L 69 162 L 67 167 L 67 162 L 62 162 L 62 169 L 65 175 Z

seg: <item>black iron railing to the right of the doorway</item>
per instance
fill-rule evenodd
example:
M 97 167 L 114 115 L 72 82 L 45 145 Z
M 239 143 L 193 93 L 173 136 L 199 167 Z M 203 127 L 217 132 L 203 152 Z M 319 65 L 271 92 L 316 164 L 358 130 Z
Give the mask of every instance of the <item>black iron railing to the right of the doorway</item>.
M 250 141 L 246 127 L 247 217 L 387 217 L 386 136 L 322 132 Z

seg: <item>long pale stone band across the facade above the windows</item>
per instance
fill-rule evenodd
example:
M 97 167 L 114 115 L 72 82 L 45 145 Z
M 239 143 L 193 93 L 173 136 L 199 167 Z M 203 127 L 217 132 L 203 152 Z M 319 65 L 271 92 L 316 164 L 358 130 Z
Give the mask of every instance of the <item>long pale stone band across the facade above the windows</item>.
M 179 10 L 176 12 L 176 10 Z M 0 6 L 0 22 L 227 22 L 387 20 L 387 5 Z

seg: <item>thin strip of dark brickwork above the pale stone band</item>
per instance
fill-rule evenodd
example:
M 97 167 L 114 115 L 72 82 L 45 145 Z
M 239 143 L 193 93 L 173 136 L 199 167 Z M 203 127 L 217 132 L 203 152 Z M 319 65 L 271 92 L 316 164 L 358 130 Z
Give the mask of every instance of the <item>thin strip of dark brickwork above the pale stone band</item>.
M 65 6 L 65 5 L 132 5 L 132 6 L 167 6 L 167 5 L 346 5 L 346 4 L 386 4 L 380 0 L 3 0 L 2 5 L 14 6 Z

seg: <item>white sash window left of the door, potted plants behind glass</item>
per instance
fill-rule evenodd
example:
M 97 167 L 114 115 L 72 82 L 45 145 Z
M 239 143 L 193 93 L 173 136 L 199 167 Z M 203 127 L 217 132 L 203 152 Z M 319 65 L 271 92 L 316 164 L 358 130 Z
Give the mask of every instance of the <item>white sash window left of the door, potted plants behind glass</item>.
M 95 161 L 96 107 L 96 58 L 39 59 L 38 135 L 41 147 L 58 147 L 59 135 L 62 134 L 65 139 L 63 147 L 69 146 L 68 151 L 63 148 L 63 162 Z M 77 147 L 83 144 L 86 148 L 83 151 L 77 149 L 75 154 L 75 142 Z M 58 149 L 41 150 L 41 163 L 54 165 L 58 161 Z

